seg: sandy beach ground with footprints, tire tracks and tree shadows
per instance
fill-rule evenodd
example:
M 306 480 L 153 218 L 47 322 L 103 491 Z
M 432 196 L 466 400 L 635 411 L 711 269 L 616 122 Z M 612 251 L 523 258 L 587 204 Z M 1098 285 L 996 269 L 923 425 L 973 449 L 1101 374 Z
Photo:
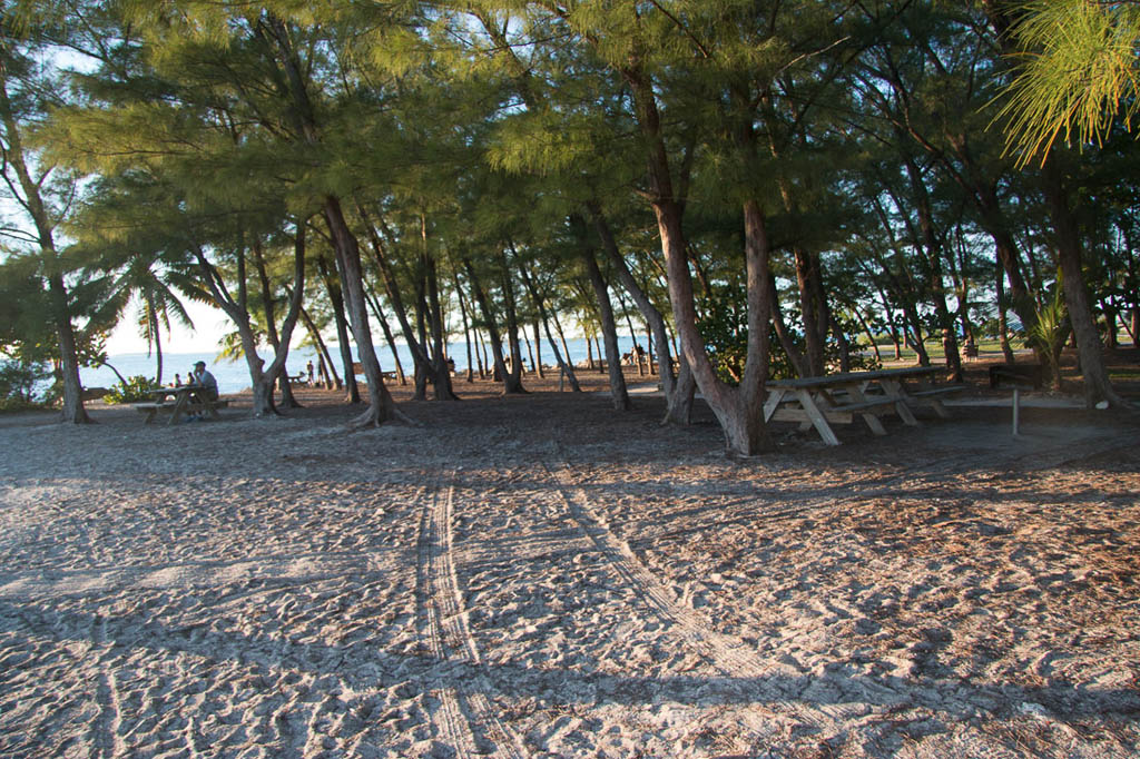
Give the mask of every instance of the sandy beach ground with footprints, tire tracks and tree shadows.
M 1134 422 L 457 391 L 0 423 L 0 756 L 1140 756 Z

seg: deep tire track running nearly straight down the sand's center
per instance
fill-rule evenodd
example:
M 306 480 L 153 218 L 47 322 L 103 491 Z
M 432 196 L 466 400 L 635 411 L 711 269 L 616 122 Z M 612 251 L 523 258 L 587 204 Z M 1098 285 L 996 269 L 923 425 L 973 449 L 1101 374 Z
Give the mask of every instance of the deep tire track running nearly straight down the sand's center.
M 487 699 L 490 680 L 467 627 L 451 545 L 451 473 L 435 475 L 423 499 L 416 539 L 416 625 L 421 646 L 437 660 L 426 675 L 430 692 L 440 701 L 432 720 L 457 757 L 521 759 L 527 756 L 522 742 L 499 721 Z

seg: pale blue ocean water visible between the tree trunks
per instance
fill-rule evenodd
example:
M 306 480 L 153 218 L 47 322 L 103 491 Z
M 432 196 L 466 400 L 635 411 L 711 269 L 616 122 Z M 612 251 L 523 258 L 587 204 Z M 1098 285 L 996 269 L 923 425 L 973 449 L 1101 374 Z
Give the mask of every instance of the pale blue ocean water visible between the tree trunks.
M 642 348 L 645 346 L 645 335 L 638 334 L 637 340 Z M 618 336 L 618 349 L 622 352 L 629 352 L 633 348 L 633 338 L 627 334 L 625 336 Z M 567 346 L 570 349 L 570 360 L 573 364 L 579 364 L 586 360 L 587 350 L 585 338 L 568 340 Z M 561 345 L 560 345 L 561 349 Z M 342 368 L 340 366 L 340 351 L 336 346 L 329 345 L 329 352 L 333 354 L 333 360 L 337 362 L 336 372 L 342 374 Z M 475 345 L 472 345 L 472 364 L 478 366 L 474 358 Z M 408 350 L 407 345 L 402 343 L 397 344 L 397 351 L 400 357 L 400 364 L 405 372 L 412 372 L 413 361 L 412 352 Z M 551 349 L 547 341 L 542 343 L 542 362 L 548 366 L 555 366 L 556 361 L 554 359 L 554 351 Z M 527 361 L 527 366 L 530 366 L 530 356 L 527 351 L 527 344 L 522 343 L 522 354 Z M 352 356 L 356 357 L 356 350 L 352 351 Z M 376 346 L 376 356 L 380 358 L 381 368 L 384 372 L 394 372 L 396 362 L 392 360 L 392 351 L 386 346 Z M 448 356 L 455 360 L 455 368 L 458 372 L 463 372 L 467 368 L 467 345 L 465 342 L 453 342 L 448 344 Z M 262 353 L 262 357 L 267 360 L 271 357 L 268 351 Z M 490 359 L 490 350 L 487 351 L 487 357 Z M 594 357 L 597 358 L 597 352 L 595 351 Z M 294 349 L 288 353 L 288 359 L 286 361 L 286 368 L 291 375 L 302 374 L 304 372 L 306 364 L 312 361 L 314 369 L 317 367 L 317 353 L 311 349 Z M 491 359 L 494 360 L 494 359 Z M 117 356 L 108 357 L 107 361 L 119 369 L 120 374 L 124 377 L 132 377 L 136 375 L 141 375 L 146 377 L 154 377 L 155 374 L 155 357 L 147 356 L 146 353 L 120 353 Z M 162 354 L 162 381 L 165 384 L 170 384 L 174 381 L 174 374 L 179 374 L 182 381 L 186 381 L 186 375 L 194 367 L 196 361 L 205 361 L 206 368 L 211 374 L 218 379 L 218 389 L 222 393 L 236 393 L 250 387 L 250 370 L 246 368 L 245 359 L 238 359 L 237 361 L 219 360 L 217 353 L 166 353 Z M 83 382 L 84 387 L 109 387 L 111 385 L 119 382 L 115 377 L 115 373 L 107 367 L 97 368 L 83 368 L 80 370 L 80 378 Z

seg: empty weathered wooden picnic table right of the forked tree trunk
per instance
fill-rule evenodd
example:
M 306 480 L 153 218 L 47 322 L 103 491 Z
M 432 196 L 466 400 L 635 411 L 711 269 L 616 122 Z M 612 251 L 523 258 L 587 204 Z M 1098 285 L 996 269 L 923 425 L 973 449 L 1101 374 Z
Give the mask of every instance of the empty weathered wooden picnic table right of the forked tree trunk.
M 832 424 L 850 424 L 862 418 L 871 432 L 887 434 L 879 416 L 896 414 L 903 424 L 918 426 L 911 405 L 928 403 L 935 413 L 948 418 L 950 413 L 939 395 L 955 392 L 962 385 L 937 386 L 933 382 L 937 367 L 906 367 L 874 372 L 847 372 L 821 377 L 773 379 L 766 384 L 764 421 L 799 422 L 803 429 L 815 427 L 829 446 L 838 446 Z M 907 389 L 911 381 L 917 389 Z

